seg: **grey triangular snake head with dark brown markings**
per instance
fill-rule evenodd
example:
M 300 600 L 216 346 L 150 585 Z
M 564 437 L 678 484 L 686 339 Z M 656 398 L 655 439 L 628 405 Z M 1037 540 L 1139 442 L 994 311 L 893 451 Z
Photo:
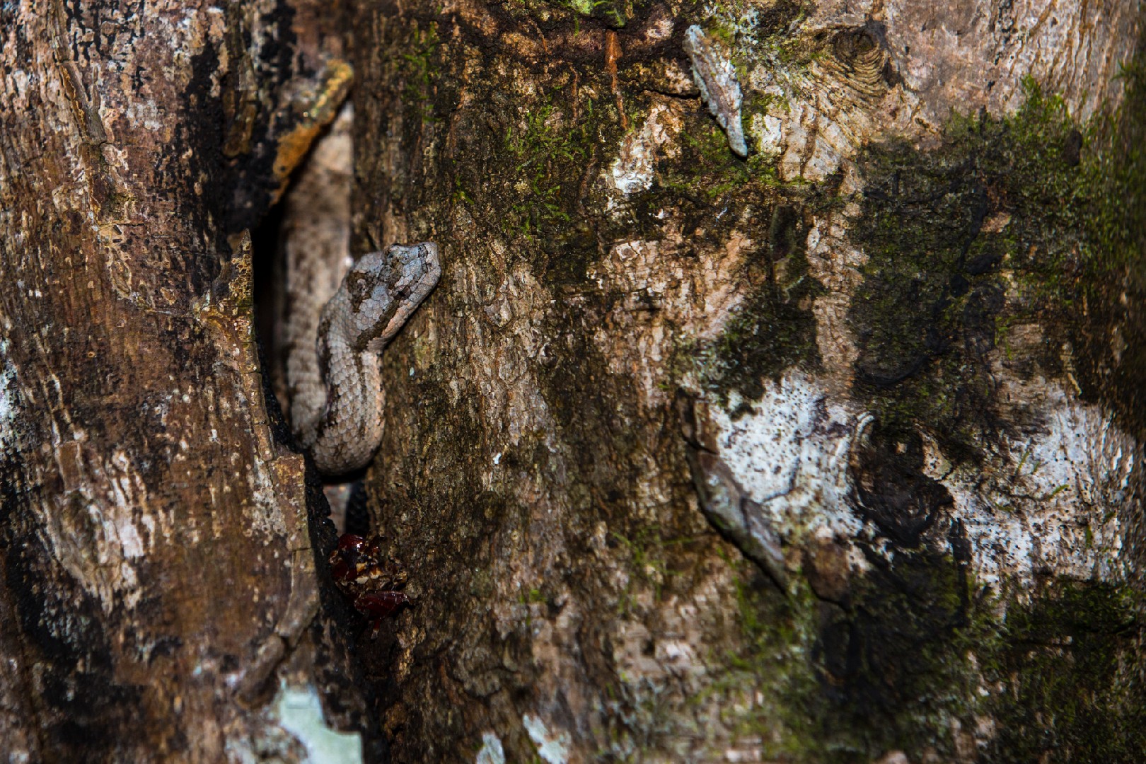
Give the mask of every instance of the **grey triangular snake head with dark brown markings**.
M 393 244 L 359 258 L 343 282 L 354 349 L 380 353 L 440 276 L 438 245 L 432 242 Z

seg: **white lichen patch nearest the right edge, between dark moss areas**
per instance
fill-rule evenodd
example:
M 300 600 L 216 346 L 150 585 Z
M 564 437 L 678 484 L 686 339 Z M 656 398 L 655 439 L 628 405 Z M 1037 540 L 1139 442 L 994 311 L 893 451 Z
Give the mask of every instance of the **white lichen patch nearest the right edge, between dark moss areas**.
M 1007 438 L 1003 455 L 982 470 L 952 472 L 939 455 L 929 460 L 931 476 L 955 498 L 976 575 L 984 583 L 1035 574 L 1120 577 L 1140 447 L 1109 415 L 1061 388 L 1005 383 L 1007 393 L 1036 403 L 1037 428 Z

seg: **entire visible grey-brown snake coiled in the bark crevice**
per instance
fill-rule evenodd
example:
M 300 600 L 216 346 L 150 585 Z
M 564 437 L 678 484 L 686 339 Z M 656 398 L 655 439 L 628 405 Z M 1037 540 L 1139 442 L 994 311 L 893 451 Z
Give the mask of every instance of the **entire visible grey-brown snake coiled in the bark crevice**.
M 366 466 L 382 441 L 380 354 L 441 276 L 438 246 L 394 244 L 351 262 L 350 110 L 288 200 L 282 347 L 291 426 L 319 471 Z

